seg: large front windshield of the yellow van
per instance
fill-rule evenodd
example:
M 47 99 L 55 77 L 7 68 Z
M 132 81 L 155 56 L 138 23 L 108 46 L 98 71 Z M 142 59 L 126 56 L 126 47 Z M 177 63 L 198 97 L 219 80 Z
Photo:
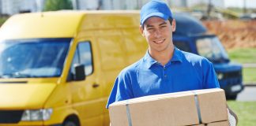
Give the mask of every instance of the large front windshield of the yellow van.
M 0 78 L 60 76 L 71 39 L 0 41 Z

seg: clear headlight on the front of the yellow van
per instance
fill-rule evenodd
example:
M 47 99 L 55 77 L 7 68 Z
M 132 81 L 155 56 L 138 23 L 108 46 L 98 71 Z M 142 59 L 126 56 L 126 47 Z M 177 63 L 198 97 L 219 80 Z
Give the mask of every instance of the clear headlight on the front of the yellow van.
M 24 110 L 21 120 L 49 120 L 51 118 L 52 109 L 27 109 Z

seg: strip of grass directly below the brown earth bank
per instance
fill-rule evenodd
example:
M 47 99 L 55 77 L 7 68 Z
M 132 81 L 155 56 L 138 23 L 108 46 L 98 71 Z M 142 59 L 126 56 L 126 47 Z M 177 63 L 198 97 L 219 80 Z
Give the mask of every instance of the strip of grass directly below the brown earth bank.
M 232 61 L 239 63 L 255 63 L 256 64 L 256 48 L 241 48 L 228 50 L 228 55 Z

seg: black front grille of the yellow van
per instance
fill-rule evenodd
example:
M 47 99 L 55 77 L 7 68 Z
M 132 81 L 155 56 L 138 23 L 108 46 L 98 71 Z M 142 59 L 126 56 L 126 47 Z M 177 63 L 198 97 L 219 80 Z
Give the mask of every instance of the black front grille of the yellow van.
M 23 110 L 0 110 L 0 124 L 17 124 Z

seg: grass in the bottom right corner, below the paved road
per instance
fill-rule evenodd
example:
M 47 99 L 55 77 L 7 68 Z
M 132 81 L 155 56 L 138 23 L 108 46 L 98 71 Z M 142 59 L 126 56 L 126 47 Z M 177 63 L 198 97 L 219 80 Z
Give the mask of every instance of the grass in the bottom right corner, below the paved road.
M 256 102 L 228 101 L 228 106 L 239 117 L 238 126 L 251 126 L 256 124 Z

